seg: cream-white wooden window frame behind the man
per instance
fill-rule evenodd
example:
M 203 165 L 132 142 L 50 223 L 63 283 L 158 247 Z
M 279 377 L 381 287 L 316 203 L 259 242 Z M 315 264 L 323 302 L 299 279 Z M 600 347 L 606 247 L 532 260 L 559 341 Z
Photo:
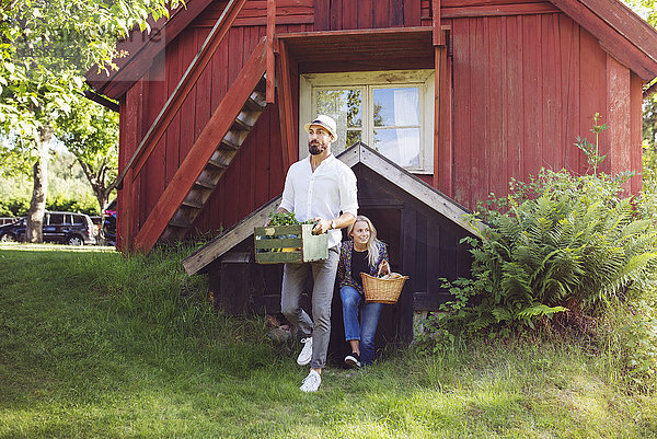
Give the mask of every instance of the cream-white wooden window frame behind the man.
M 358 71 L 341 73 L 307 73 L 299 76 L 299 158 L 308 155 L 308 134 L 304 125 L 315 117 L 314 90 L 322 88 L 361 88 L 362 93 L 362 136 L 367 146 L 372 146 L 371 134 L 373 119 L 372 90 L 376 88 L 419 88 L 420 117 L 420 164 L 418 167 L 405 167 L 414 174 L 434 173 L 434 107 L 435 82 L 434 70 L 387 70 Z

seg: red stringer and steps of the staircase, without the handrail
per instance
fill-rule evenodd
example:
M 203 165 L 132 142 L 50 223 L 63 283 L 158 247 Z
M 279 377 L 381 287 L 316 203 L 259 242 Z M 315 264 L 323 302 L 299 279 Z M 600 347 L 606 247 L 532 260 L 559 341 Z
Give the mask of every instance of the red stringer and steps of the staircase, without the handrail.
M 244 63 L 135 236 L 148 253 L 184 238 L 266 107 L 265 39 Z

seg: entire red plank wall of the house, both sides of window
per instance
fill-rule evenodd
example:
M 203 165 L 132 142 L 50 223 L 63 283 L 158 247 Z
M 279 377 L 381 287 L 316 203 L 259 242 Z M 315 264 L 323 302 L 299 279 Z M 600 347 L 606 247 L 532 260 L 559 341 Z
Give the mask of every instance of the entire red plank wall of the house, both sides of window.
M 122 166 L 224 4 L 212 3 L 168 44 L 123 97 Z M 284 23 L 277 26 L 278 34 L 430 24 L 428 0 L 277 0 L 277 22 Z M 138 212 L 139 222 L 130 224 L 132 235 L 265 35 L 265 16 L 266 1 L 246 3 L 150 157 L 135 194 L 119 192 L 119 208 Z M 588 32 L 546 2 L 443 0 L 441 16 L 442 24 L 451 26 L 453 69 L 451 181 L 440 189 L 474 208 L 491 192 L 504 195 L 510 177 L 535 174 L 541 166 L 586 172 L 585 158 L 573 142 L 575 136 L 589 134 L 596 112 L 611 126 L 601 138 L 602 151 L 609 153 L 602 170 L 641 170 L 642 82 Z M 297 89 L 298 81 L 292 85 Z M 196 219 L 195 232 L 229 228 L 280 194 L 281 151 L 278 108 L 270 105 Z M 431 182 L 431 176 L 424 178 Z M 639 187 L 639 178 L 634 178 L 631 189 Z

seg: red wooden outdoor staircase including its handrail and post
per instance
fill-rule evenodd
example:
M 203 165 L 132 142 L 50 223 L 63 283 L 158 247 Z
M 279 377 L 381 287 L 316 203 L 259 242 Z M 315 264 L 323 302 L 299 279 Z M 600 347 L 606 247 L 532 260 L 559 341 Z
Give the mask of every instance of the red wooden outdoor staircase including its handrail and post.
M 210 120 L 192 146 L 142 224 L 139 224 L 138 178 L 174 116 L 194 90 L 204 69 L 228 36 L 246 0 L 229 0 L 196 57 L 141 139 L 117 178 L 122 251 L 148 253 L 158 242 L 184 238 L 266 105 L 274 103 L 276 1 L 267 0 L 267 36 L 263 37 L 229 86 Z M 288 81 L 289 82 L 289 81 Z M 285 89 L 289 92 L 289 86 Z M 284 117 L 285 119 L 285 117 Z

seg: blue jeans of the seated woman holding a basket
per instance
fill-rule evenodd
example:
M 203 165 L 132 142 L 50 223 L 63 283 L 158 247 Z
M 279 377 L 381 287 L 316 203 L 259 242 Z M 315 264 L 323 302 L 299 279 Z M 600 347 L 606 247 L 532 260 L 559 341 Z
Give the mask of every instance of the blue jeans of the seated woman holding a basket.
M 346 340 L 360 340 L 360 361 L 370 365 L 374 360 L 374 335 L 383 303 L 368 303 L 354 287 L 339 289 L 343 301 L 343 319 Z M 362 304 L 362 307 L 361 307 Z M 360 309 L 360 324 L 358 310 Z

